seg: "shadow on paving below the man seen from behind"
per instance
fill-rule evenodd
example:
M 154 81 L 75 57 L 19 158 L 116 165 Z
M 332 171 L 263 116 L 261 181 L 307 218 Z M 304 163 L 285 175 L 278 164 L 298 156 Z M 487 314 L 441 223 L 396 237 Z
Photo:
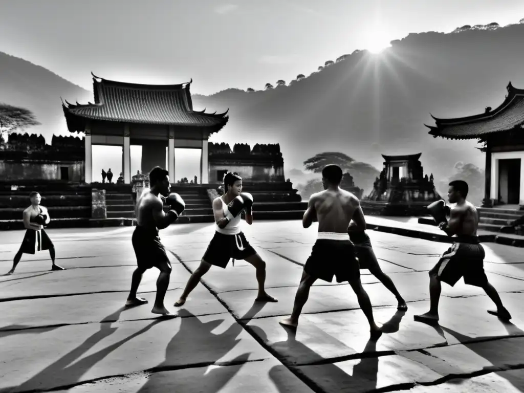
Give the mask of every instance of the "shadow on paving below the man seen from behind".
M 397 311 L 389 321 L 383 324 L 387 330 L 387 332 L 385 331 L 384 333 L 394 333 L 398 331 L 400 321 L 405 314 L 406 311 Z M 328 386 L 325 384 L 336 387 L 336 389 L 330 389 L 333 391 L 364 392 L 376 389 L 378 375 L 378 356 L 376 355 L 377 341 L 368 340 L 360 354 L 361 361 L 353 366 L 353 375 L 349 375 L 333 362 L 354 362 L 358 358 L 358 354 L 354 356 L 344 356 L 343 358 L 325 359 L 300 341 L 297 341 L 297 331 L 295 329 L 288 328 L 287 326 L 282 326 L 282 328 L 288 335 L 287 341 L 274 343 L 271 347 L 277 352 L 279 348 L 280 350 L 284 349 L 285 352 L 291 353 L 292 356 L 280 357 L 279 360 L 284 366 L 275 366 L 269 370 L 269 378 L 275 386 L 277 386 L 279 392 L 283 393 L 297 389 L 296 383 L 292 385 L 293 381 L 289 379 L 289 374 L 286 373 L 286 366 L 296 370 L 296 372 L 301 375 L 302 380 L 307 380 L 308 385 L 320 386 L 321 389 L 324 390 L 328 390 Z M 302 360 L 302 362 L 299 363 L 301 359 L 305 361 Z M 314 380 L 310 375 L 316 375 L 319 376 L 319 378 L 318 380 Z

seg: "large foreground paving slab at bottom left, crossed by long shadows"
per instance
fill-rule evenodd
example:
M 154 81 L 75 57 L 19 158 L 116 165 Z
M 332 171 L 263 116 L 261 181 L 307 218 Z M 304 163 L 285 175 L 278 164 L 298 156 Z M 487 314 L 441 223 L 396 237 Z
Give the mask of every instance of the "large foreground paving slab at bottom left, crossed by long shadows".
M 194 316 L 171 320 L 64 326 L 31 341 L 31 356 L 20 347 L 27 337 L 0 333 L 0 388 L 11 391 L 51 389 L 82 380 L 123 375 L 153 367 L 269 359 L 269 353 L 231 315 Z M 23 359 L 23 362 L 20 362 Z M 129 363 L 132 359 L 132 363 Z

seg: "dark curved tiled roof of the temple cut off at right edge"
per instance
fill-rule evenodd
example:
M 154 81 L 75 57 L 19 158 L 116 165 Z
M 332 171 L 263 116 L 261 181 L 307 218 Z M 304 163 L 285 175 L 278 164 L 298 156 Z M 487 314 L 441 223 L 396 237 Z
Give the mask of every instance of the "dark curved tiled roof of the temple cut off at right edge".
M 475 139 L 489 134 L 508 131 L 524 125 L 524 89 L 516 89 L 511 82 L 507 86 L 508 94 L 502 104 L 496 109 L 486 108 L 486 112 L 467 117 L 435 119 L 435 126 L 429 134 L 433 137 L 450 139 Z M 489 111 L 488 111 L 489 110 Z

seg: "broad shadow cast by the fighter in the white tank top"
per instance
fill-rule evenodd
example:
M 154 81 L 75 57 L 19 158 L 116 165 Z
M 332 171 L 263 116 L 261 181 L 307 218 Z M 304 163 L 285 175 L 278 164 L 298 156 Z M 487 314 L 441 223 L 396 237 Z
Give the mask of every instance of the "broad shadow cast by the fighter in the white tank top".
M 251 352 L 244 352 L 231 360 L 221 361 L 228 353 L 235 354 L 234 348 L 242 340 L 237 337 L 244 331 L 243 325 L 264 306 L 265 303 L 254 302 L 240 318 L 241 323 L 233 322 L 222 333 L 213 331 L 219 328 L 225 319 L 202 322 L 202 319 L 207 317 L 195 316 L 187 309 L 181 308 L 178 312 L 181 318 L 180 328 L 166 347 L 166 359 L 158 366 L 147 370 L 151 375 L 139 393 L 214 393 L 222 389 L 246 362 L 257 360 L 249 359 Z M 183 374 L 177 373 L 179 369 L 183 369 Z

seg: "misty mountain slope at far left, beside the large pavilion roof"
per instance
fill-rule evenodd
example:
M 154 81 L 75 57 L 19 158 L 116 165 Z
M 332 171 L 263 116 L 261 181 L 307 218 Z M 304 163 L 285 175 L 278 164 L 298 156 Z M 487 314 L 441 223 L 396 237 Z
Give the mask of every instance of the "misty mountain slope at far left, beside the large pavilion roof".
M 0 102 L 27 108 L 35 114 L 39 126 L 25 130 L 51 137 L 70 135 L 65 124 L 60 97 L 69 102 L 93 101 L 93 93 L 27 60 L 0 52 Z

